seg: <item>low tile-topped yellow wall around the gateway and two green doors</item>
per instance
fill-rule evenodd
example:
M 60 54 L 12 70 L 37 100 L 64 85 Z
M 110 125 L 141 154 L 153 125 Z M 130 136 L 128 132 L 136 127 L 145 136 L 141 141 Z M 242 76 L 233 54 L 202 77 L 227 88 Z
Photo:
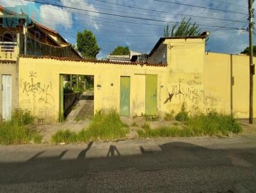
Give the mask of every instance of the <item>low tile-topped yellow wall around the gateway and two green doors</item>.
M 131 76 L 131 115 L 140 116 L 141 113 L 145 114 L 145 75 L 158 74 L 159 87 L 160 84 L 166 84 L 168 72 L 167 67 L 163 66 L 33 58 L 20 58 L 19 70 L 19 106 L 29 109 L 36 117 L 44 114 L 49 122 L 58 120 L 60 74 L 94 75 L 95 111 L 109 108 L 119 111 L 120 76 Z M 164 94 L 159 94 L 159 98 L 163 97 Z M 161 105 L 157 105 L 161 110 Z

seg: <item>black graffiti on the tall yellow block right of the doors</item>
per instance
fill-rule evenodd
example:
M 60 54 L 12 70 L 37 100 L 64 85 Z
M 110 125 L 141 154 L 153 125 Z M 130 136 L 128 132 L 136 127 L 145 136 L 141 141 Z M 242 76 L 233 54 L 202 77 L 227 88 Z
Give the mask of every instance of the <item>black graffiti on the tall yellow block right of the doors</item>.
M 173 98 L 179 98 L 179 102 L 190 100 L 194 104 L 198 104 L 203 99 L 202 93 L 202 82 L 199 76 L 187 81 L 179 78 L 177 83 L 171 84 L 169 96 L 164 103 L 172 102 Z

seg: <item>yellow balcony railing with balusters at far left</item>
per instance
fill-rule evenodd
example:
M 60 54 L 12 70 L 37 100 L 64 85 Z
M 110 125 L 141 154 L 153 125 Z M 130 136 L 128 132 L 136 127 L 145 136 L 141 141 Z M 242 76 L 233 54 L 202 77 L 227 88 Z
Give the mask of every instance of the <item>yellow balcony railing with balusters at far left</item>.
M 17 60 L 17 42 L 0 42 L 0 59 Z

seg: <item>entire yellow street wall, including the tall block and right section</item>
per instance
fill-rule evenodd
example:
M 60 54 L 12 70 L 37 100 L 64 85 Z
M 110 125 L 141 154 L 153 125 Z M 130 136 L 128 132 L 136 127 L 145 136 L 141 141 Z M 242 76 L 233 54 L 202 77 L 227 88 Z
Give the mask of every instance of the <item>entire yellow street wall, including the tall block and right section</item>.
M 141 116 L 145 114 L 145 75 L 154 74 L 159 116 L 172 110 L 179 112 L 183 102 L 192 114 L 210 110 L 230 114 L 230 55 L 205 54 L 204 43 L 202 39 L 165 40 L 168 66 L 20 58 L 19 106 L 35 116 L 44 114 L 46 122 L 57 121 L 60 74 L 78 74 L 94 75 L 95 111 L 109 108 L 119 111 L 120 76 L 130 76 L 131 116 Z M 237 118 L 246 118 L 248 57 L 232 56 L 232 61 L 233 111 Z

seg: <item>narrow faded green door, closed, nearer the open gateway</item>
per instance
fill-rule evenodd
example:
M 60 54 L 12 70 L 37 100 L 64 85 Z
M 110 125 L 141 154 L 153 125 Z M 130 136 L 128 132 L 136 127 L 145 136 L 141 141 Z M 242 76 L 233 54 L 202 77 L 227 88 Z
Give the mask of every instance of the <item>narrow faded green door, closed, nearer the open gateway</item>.
M 121 77 L 120 81 L 120 116 L 130 116 L 131 78 Z

